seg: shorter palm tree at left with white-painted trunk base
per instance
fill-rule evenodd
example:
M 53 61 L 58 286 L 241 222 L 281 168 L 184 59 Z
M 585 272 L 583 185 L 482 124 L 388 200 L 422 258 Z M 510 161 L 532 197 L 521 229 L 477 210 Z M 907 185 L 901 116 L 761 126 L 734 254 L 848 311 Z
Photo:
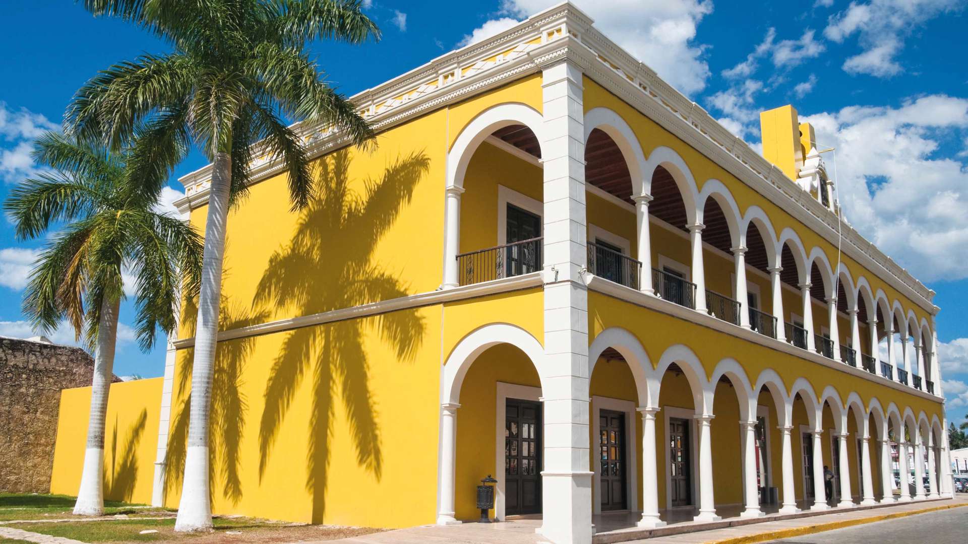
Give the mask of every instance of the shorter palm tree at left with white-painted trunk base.
M 158 329 L 171 332 L 175 327 L 182 287 L 186 295 L 197 296 L 201 238 L 185 222 L 156 211 L 157 194 L 150 196 L 134 183 L 126 155 L 47 133 L 38 138 L 33 156 L 50 169 L 21 182 L 4 208 L 20 239 L 64 224 L 34 265 L 23 310 L 45 331 L 66 317 L 76 338 L 85 336 L 87 347 L 95 350 L 91 416 L 74 512 L 96 516 L 105 511 L 105 412 L 124 298 L 122 270 L 130 269 L 136 278 L 136 333 L 147 350 Z M 155 173 L 164 178 L 167 169 Z

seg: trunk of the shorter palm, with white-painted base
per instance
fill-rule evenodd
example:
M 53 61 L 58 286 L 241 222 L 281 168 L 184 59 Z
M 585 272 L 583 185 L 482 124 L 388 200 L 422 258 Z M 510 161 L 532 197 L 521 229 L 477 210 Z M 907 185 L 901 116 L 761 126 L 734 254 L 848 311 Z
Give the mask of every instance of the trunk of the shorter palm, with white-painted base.
M 109 297 L 105 297 L 101 305 L 94 378 L 91 380 L 91 417 L 87 423 L 84 471 L 80 476 L 80 489 L 77 490 L 77 502 L 74 505 L 74 513 L 78 516 L 100 516 L 105 513 L 105 417 L 107 393 L 113 377 L 119 304 L 119 299 L 111 301 Z

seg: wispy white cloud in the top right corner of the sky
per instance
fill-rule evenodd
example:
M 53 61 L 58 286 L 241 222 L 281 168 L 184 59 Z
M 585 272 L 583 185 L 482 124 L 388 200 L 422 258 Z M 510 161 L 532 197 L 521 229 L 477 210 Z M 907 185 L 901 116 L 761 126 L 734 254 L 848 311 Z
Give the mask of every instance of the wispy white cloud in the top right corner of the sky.
M 862 52 L 847 58 L 842 68 L 850 74 L 877 77 L 903 71 L 894 57 L 904 39 L 924 22 L 963 6 L 960 0 L 870 0 L 851 2 L 846 10 L 831 15 L 824 36 L 836 43 L 858 35 Z

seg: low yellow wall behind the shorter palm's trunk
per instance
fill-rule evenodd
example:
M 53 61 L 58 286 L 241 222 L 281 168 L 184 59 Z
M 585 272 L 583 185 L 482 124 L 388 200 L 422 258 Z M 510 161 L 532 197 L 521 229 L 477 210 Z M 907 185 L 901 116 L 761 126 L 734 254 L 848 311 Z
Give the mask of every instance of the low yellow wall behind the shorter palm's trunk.
M 151 502 L 164 378 L 112 383 L 105 420 L 105 499 Z M 61 391 L 50 493 L 76 496 L 84 466 L 91 388 Z

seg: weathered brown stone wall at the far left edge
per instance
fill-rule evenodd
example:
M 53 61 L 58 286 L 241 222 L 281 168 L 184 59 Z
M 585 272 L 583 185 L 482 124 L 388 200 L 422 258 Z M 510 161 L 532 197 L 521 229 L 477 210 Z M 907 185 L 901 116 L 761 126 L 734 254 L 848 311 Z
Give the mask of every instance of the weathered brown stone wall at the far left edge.
M 0 492 L 48 492 L 60 391 L 93 372 L 81 348 L 0 337 Z

